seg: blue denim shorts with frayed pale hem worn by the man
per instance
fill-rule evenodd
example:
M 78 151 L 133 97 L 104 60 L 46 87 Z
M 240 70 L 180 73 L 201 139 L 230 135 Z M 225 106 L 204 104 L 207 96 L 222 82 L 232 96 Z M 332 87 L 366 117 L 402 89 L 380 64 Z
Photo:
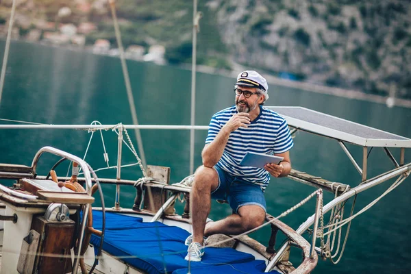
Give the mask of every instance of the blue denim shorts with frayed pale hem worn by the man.
M 212 199 L 228 201 L 234 213 L 242 206 L 260 206 L 266 212 L 264 192 L 256 184 L 245 181 L 241 177 L 229 175 L 226 171 L 214 166 L 219 174 L 219 186 L 211 192 Z

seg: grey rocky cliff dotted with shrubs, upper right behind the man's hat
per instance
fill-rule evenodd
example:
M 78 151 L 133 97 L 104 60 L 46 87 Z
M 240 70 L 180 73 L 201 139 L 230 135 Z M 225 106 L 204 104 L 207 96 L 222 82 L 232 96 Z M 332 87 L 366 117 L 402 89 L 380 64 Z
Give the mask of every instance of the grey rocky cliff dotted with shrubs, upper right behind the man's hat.
M 235 62 L 411 98 L 410 1 L 216 0 L 209 6 Z

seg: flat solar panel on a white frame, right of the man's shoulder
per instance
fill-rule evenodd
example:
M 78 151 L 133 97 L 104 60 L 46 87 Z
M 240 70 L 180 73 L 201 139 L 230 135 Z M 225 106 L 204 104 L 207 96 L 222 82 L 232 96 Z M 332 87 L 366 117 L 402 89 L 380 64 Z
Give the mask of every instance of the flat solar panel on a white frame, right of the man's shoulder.
M 411 139 L 302 107 L 267 107 L 288 125 L 363 147 L 411 147 Z

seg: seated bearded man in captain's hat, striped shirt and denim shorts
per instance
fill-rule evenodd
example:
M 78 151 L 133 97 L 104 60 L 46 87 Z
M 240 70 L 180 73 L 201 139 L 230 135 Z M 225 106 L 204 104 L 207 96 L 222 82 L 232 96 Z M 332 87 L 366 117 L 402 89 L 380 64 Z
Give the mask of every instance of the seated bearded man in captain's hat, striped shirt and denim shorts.
M 192 232 L 186 239 L 186 260 L 201 261 L 204 240 L 212 234 L 241 234 L 262 225 L 266 216 L 264 190 L 270 175 L 290 173 L 289 150 L 293 146 L 288 125 L 282 116 L 263 108 L 269 98 L 266 79 L 256 71 L 237 77 L 235 105 L 212 116 L 206 145 L 201 153 L 203 166 L 195 172 L 190 194 Z M 264 169 L 240 166 L 247 151 L 284 157 Z M 210 201 L 227 200 L 233 214 L 206 223 Z

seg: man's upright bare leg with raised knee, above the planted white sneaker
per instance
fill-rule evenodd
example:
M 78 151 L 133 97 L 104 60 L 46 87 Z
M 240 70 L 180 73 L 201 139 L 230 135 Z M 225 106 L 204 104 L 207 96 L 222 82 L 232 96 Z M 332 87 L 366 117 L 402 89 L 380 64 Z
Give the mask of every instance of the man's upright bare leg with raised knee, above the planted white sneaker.
M 192 242 L 203 243 L 204 228 L 211 208 L 211 192 L 218 186 L 219 175 L 215 169 L 200 166 L 195 171 L 190 193 Z

